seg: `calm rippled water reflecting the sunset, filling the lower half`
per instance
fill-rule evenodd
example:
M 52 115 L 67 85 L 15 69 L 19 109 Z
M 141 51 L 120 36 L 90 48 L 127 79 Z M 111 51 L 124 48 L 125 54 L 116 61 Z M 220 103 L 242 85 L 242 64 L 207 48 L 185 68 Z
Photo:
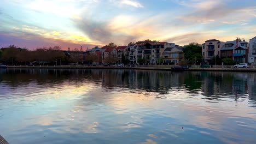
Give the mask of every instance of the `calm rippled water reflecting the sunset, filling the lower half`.
M 256 74 L 0 69 L 9 143 L 256 143 Z

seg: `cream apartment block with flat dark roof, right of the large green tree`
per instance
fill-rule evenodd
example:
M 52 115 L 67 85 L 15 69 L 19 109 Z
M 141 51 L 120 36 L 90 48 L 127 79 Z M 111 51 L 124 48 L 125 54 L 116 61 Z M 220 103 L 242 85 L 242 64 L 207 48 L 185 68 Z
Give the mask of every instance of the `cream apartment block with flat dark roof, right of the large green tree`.
M 223 47 L 225 43 L 217 39 L 206 40 L 202 44 L 202 57 L 205 62 L 211 62 L 214 56 L 220 56 L 220 48 Z

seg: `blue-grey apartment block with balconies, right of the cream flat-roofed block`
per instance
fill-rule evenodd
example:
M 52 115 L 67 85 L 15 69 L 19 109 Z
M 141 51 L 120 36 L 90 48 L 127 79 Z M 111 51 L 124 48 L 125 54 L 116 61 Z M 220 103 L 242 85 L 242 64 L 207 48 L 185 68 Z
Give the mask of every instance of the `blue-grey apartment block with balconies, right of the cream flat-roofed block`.
M 248 57 L 248 42 L 236 39 L 227 41 L 220 49 L 220 58 L 229 57 L 236 63 L 246 63 Z

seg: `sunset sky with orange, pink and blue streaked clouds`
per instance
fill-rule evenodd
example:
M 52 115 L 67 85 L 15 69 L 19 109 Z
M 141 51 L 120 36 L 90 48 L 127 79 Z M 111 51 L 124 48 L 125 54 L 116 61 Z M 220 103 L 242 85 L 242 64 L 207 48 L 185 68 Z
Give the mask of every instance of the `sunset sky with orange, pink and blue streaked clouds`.
M 74 49 L 144 39 L 187 45 L 256 36 L 254 0 L 0 1 L 0 47 Z

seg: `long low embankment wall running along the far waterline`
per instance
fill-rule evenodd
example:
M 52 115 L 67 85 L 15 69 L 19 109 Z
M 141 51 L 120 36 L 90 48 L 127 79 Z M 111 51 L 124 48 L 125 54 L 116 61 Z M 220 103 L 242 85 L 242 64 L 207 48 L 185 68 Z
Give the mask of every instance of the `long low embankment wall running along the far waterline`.
M 171 70 L 171 67 L 89 67 L 85 65 L 61 65 L 61 66 L 7 66 L 7 68 L 17 69 L 141 69 L 141 70 Z M 240 71 L 240 72 L 256 72 L 255 68 L 189 68 L 186 71 Z

